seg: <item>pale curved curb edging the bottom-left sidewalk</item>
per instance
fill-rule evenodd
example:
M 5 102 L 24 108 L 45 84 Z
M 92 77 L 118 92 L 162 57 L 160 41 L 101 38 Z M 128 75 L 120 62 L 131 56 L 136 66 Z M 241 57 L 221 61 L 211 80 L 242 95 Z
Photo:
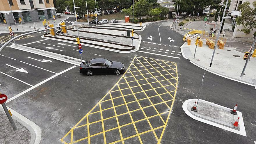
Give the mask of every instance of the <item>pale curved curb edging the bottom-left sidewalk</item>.
M 30 142 L 29 144 L 39 144 L 42 138 L 42 131 L 38 125 L 36 125 L 31 120 L 27 119 L 23 115 L 19 114 L 18 112 L 14 111 L 13 109 L 7 106 L 7 109 L 11 111 L 13 114 L 12 118 L 26 127 L 30 134 Z M 0 107 L 0 110 L 4 112 L 3 107 Z

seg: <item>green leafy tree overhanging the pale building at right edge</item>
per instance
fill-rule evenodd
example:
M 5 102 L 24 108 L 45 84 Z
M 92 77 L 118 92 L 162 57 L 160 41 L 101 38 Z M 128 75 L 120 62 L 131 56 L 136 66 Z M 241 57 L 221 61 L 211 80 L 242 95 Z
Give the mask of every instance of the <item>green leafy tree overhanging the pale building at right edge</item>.
M 244 33 L 250 33 L 254 30 L 253 35 L 256 36 L 256 1 L 252 3 L 254 8 L 250 8 L 250 3 L 248 1 L 244 2 L 239 6 L 241 10 L 241 15 L 236 18 L 237 25 L 243 25 Z

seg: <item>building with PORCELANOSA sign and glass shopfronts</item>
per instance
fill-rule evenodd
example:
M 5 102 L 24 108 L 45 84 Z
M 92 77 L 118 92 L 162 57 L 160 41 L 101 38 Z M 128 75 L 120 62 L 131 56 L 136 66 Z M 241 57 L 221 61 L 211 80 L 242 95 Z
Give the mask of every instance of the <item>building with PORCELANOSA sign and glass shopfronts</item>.
M 19 23 L 38 22 L 44 19 L 52 19 L 55 15 L 53 0 L 0 0 L 0 23 L 14 25 Z M 13 19 L 14 17 L 14 19 Z

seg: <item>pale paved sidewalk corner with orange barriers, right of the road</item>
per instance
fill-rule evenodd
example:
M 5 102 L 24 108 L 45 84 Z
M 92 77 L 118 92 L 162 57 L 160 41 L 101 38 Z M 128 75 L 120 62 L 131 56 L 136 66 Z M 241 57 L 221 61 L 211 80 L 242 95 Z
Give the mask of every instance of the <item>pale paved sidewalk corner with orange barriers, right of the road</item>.
M 203 42 L 203 47 L 197 47 L 195 59 L 193 59 L 195 52 L 194 43 L 194 41 L 191 41 L 191 45 L 187 45 L 187 42 L 185 42 L 181 47 L 183 57 L 189 59 L 191 63 L 227 79 L 256 86 L 256 58 L 250 58 L 244 72 L 245 74 L 241 78 L 240 74 L 246 62 L 243 60 L 243 53 L 237 51 L 233 47 L 224 47 L 224 49 L 218 49 L 217 47 L 212 66 L 209 67 L 214 50 L 210 49 L 205 42 Z

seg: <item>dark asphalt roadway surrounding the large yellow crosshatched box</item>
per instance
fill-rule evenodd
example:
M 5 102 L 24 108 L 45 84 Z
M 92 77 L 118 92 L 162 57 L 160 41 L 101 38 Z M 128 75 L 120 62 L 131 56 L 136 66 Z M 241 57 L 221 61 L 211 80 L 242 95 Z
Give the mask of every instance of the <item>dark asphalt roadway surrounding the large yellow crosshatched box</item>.
M 135 56 L 177 63 L 177 93 L 171 110 L 170 119 L 168 120 L 165 132 L 161 138 L 161 143 L 163 144 L 253 144 L 253 141 L 256 140 L 255 88 L 211 74 L 183 58 L 181 53 L 179 53 L 180 46 L 183 44 L 183 36 L 170 29 L 170 24 L 172 22 L 172 19 L 156 22 L 148 25 L 144 31 L 141 31 L 139 34 L 142 36 L 142 42 L 140 49 L 137 52 L 121 54 L 104 49 L 84 47 L 84 53 L 82 54 L 83 60 L 89 60 L 91 58 L 107 58 L 112 61 L 120 61 L 124 63 L 126 68 L 129 67 Z M 152 36 L 152 40 L 150 35 Z M 76 50 L 76 44 L 48 39 L 45 40 L 40 36 L 41 34 L 36 33 L 33 34 L 33 38 L 17 40 L 16 43 L 65 56 L 80 58 L 80 55 Z M 51 48 L 49 49 L 49 47 Z M 59 72 L 65 71 L 7 103 L 7 106 L 40 126 L 42 130 L 42 144 L 61 143 L 60 139 L 91 109 L 93 109 L 102 97 L 104 97 L 104 95 L 106 95 L 106 93 L 108 93 L 108 91 L 115 86 L 118 80 L 122 77 L 122 75 L 115 76 L 111 74 L 93 75 L 88 77 L 79 73 L 78 66 L 73 67 L 73 65 L 62 61 L 14 50 L 9 47 L 6 47 L 6 49 L 1 52 L 1 55 L 4 55 L 0 56 L 1 61 L 4 61 L 4 63 L 1 63 L 0 71 L 12 77 L 17 77 L 17 79 L 21 79 L 32 86 L 51 77 L 55 73 L 58 74 Z M 52 62 L 40 62 L 38 60 L 50 60 Z M 51 72 L 20 61 L 44 68 Z M 17 72 L 17 69 L 14 67 L 19 69 L 24 68 L 24 70 L 29 73 Z M 238 111 L 241 111 L 243 114 L 247 137 L 196 121 L 184 113 L 182 110 L 182 103 L 187 99 L 198 97 L 202 75 L 204 73 L 206 76 L 200 99 L 229 108 L 233 108 L 235 104 L 238 104 Z M 0 74 L 1 91 L 15 96 L 31 87 L 5 74 Z M 2 79 L 4 81 L 2 81 Z M 106 115 L 108 115 L 108 113 Z M 97 129 L 99 128 L 94 127 L 90 131 Z M 114 134 L 114 132 L 110 132 L 110 137 L 113 139 L 115 139 L 113 137 Z M 124 134 L 124 136 L 125 135 L 126 134 Z M 76 135 L 76 133 L 74 133 L 74 137 L 76 136 L 78 137 L 80 134 Z M 144 143 L 154 143 L 152 136 L 147 135 L 144 137 Z M 102 137 L 98 136 L 95 138 L 98 141 L 97 143 L 102 142 Z M 136 141 L 136 139 L 130 139 L 129 143 L 136 143 Z M 84 143 L 86 142 L 84 141 Z

